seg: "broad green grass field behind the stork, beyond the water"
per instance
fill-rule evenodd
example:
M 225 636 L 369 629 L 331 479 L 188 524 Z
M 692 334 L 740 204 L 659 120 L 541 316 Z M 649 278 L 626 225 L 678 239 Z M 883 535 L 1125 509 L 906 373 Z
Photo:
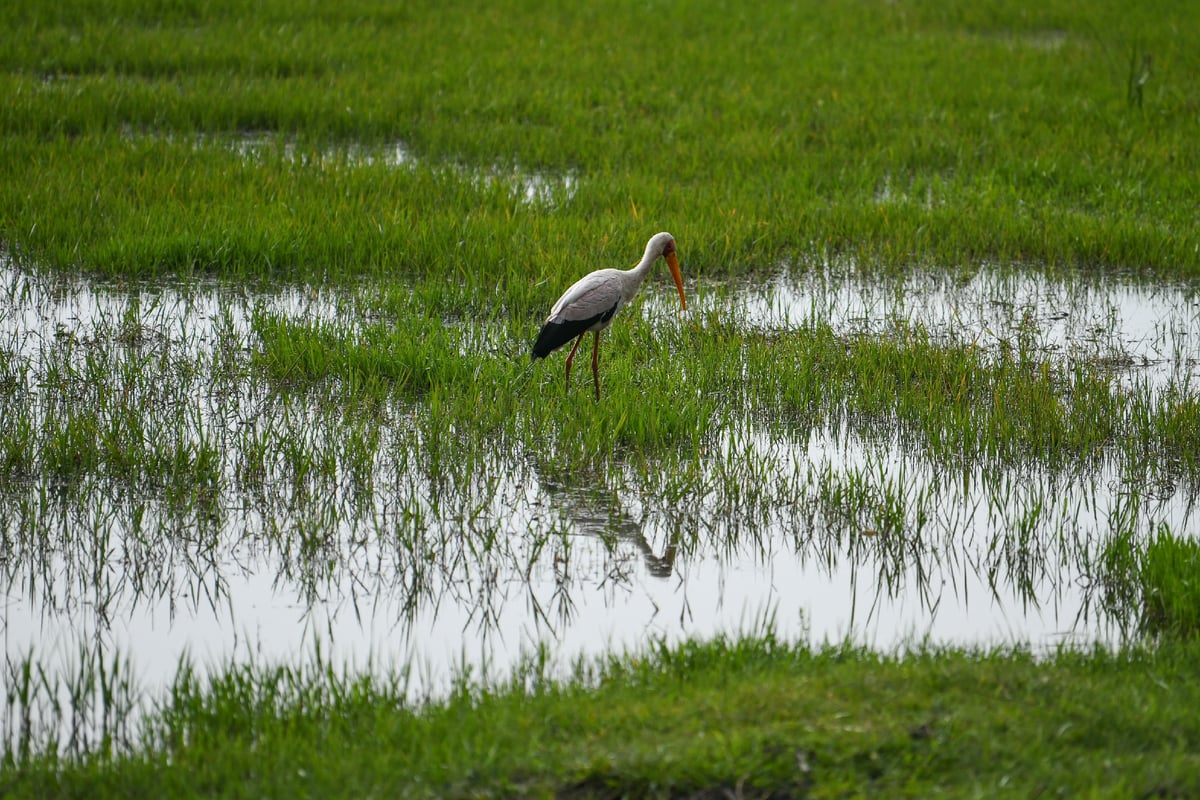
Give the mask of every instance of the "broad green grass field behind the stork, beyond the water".
M 19 1 L 0 22 L 0 239 L 30 263 L 450 273 L 518 309 L 648 229 L 709 275 L 1200 267 L 1187 4 Z M 1152 56 L 1138 102 L 1130 54 Z M 350 155 L 395 142 L 416 166 Z M 478 180 L 497 168 L 577 184 L 532 207 Z

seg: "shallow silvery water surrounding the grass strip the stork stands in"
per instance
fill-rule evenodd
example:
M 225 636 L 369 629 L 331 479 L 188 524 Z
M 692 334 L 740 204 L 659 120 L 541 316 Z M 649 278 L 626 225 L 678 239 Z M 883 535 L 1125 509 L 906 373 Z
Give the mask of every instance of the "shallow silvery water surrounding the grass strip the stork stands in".
M 647 294 L 641 313 L 666 313 L 670 296 Z M 751 327 L 824 319 L 870 332 L 902 318 L 982 347 L 1025 337 L 1152 386 L 1194 385 L 1200 348 L 1186 287 L 980 269 L 782 276 L 689 296 L 697 319 L 732 303 Z M 955 470 L 877 432 L 749 416 L 720 431 L 701 481 L 733 473 L 743 494 L 694 492 L 688 513 L 632 471 L 602 488 L 558 486 L 512 447 L 445 482 L 406 438 L 420 411 L 400 401 L 349 426 L 344 409 L 223 377 L 256 347 L 256 308 L 344 320 L 354 303 L 305 288 L 131 293 L 0 269 L 6 416 L 32 409 L 36 427 L 52 426 L 62 408 L 52 384 L 70 389 L 68 403 L 122 402 L 91 378 L 112 374 L 119 389 L 138 380 L 121 372 L 134 363 L 150 381 L 133 390 L 145 435 L 197 459 L 215 453 L 218 479 L 211 495 L 182 500 L 86 471 L 2 487 L 8 669 L 32 654 L 68 674 L 83 643 L 127 654 L 152 688 L 182 657 L 203 672 L 295 663 L 319 646 L 359 668 L 410 669 L 410 691 L 427 694 L 464 668 L 504 674 L 542 643 L 565 664 L 767 618 L 785 637 L 887 650 L 1115 642 L 1120 625 L 1094 585 L 1105 542 L 1195 524 L 1194 497 L 1130 486 L 1104 467 Z M 368 457 L 350 458 L 355 447 Z M 846 501 L 854 492 L 869 501 Z

